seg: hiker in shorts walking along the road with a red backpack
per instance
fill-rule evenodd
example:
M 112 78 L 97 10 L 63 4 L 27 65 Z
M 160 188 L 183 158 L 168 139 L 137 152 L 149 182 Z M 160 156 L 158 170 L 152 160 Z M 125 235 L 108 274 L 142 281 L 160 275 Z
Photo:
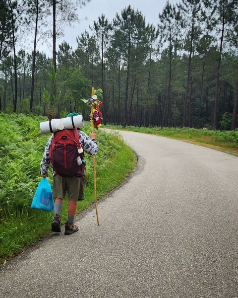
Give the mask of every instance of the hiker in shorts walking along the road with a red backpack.
M 77 115 L 79 114 L 70 113 L 67 117 Z M 48 177 L 50 163 L 53 163 L 53 197 L 55 199 L 55 206 L 51 226 L 54 232 L 60 232 L 60 211 L 66 192 L 68 193 L 68 220 L 65 223 L 64 234 L 72 234 L 78 231 L 77 225 L 73 222 L 77 201 L 84 200 L 83 172 L 85 162 L 83 150 L 90 155 L 96 155 L 98 152 L 97 136 L 95 134 L 90 135 L 91 138 L 79 129 L 62 130 L 54 133 L 46 144 L 40 166 L 41 176 Z M 66 146 L 63 143 L 56 148 L 56 142 L 59 140 L 61 143 L 63 143 L 63 140 L 67 140 L 67 142 L 71 143 L 71 146 Z M 65 158 L 66 156 L 67 159 Z M 57 158 L 60 158 L 60 160 L 57 160 Z

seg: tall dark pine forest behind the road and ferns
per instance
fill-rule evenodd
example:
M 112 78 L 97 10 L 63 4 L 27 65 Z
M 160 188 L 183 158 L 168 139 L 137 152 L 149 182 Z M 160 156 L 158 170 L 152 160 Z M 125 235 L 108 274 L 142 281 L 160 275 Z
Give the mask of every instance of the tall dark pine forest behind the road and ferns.
M 95 86 L 104 124 L 236 129 L 238 0 L 167 1 L 156 24 L 128 5 L 82 34 L 72 28 L 75 49 L 57 47 L 87 2 L 0 0 L 0 111 L 87 119 L 81 99 Z M 26 34 L 31 51 L 19 46 Z M 51 57 L 38 50 L 49 36 Z

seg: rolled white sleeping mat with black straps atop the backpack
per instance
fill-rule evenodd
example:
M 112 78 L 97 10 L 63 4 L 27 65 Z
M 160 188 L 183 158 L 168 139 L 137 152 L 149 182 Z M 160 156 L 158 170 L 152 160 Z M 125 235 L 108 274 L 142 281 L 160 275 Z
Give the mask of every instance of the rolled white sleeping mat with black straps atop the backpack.
M 42 134 L 55 133 L 62 129 L 73 129 L 84 127 L 83 116 L 77 115 L 62 119 L 52 119 L 51 121 L 41 122 L 40 129 Z

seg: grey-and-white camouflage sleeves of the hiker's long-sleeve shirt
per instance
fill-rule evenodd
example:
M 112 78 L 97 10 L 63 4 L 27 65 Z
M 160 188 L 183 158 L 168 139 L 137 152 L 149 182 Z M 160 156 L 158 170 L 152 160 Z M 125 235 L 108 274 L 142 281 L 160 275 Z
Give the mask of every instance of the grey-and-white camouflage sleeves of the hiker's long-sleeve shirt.
M 84 149 L 85 152 L 87 152 L 90 155 L 96 155 L 98 153 L 98 143 L 95 140 L 92 140 L 88 137 L 84 132 L 78 131 L 79 141 L 82 146 L 82 149 Z M 41 160 L 41 174 L 45 175 L 50 167 L 50 147 L 52 140 L 54 138 L 54 135 L 52 135 L 49 139 L 49 141 L 46 144 L 45 152 L 43 154 L 42 160 Z

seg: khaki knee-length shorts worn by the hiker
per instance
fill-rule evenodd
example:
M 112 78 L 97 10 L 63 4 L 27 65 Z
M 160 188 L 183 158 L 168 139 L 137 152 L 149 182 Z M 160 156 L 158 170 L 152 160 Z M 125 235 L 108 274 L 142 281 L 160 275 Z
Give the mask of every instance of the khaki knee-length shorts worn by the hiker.
M 53 183 L 53 197 L 54 199 L 64 199 L 66 192 L 68 193 L 68 200 L 82 201 L 84 200 L 84 178 L 83 177 L 61 177 L 54 176 Z

